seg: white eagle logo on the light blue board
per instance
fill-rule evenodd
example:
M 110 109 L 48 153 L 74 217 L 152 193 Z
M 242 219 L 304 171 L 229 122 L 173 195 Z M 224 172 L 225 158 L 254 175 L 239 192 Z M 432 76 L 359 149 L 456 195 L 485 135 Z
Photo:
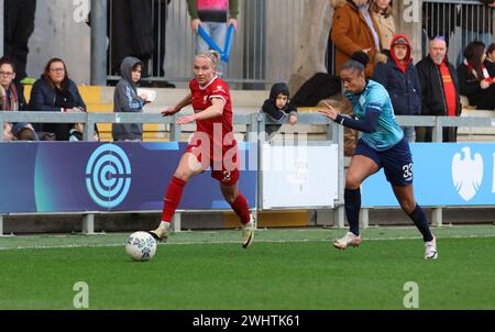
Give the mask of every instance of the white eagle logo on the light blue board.
M 462 199 L 470 201 L 483 180 L 481 154 L 476 153 L 474 158 L 471 157 L 471 150 L 468 146 L 462 148 L 462 153 L 457 153 L 452 158 L 452 180 Z

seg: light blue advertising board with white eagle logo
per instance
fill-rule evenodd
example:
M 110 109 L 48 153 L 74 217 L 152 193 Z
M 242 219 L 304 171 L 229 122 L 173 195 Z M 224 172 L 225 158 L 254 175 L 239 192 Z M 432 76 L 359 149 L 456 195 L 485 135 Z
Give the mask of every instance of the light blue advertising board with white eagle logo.
M 415 197 L 421 206 L 495 204 L 495 144 L 413 143 Z M 361 188 L 362 207 L 397 207 L 383 169 Z

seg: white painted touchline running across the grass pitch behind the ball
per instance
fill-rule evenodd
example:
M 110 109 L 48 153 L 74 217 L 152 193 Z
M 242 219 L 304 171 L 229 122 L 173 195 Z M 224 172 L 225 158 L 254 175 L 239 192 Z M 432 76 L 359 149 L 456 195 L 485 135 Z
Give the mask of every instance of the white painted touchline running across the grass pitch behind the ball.
M 442 239 L 487 239 L 495 237 L 495 234 L 487 235 L 448 235 L 448 236 L 437 236 L 439 241 Z M 363 241 L 397 241 L 397 240 L 420 240 L 421 236 L 398 236 L 398 237 L 364 237 Z M 306 242 L 330 242 L 331 239 L 298 239 L 298 240 L 257 240 L 257 243 L 306 243 Z M 208 242 L 177 242 L 177 243 L 158 243 L 162 245 L 191 245 L 191 244 L 235 244 L 239 241 L 208 241 Z M 125 243 L 118 244 L 62 244 L 62 245 L 33 245 L 33 246 L 0 246 L 0 251 L 13 251 L 13 250 L 52 250 L 52 248 L 77 248 L 77 247 L 114 247 L 114 246 L 125 246 Z

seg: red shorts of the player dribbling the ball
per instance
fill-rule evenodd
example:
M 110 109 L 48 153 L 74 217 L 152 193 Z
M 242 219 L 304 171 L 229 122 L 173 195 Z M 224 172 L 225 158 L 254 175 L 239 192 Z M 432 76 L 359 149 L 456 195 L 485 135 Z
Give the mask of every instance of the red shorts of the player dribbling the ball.
M 198 162 L 202 162 L 202 154 L 195 153 L 197 145 L 189 144 L 186 147 L 186 153 L 191 153 L 196 156 Z M 232 153 L 232 148 L 235 151 Z M 239 159 L 238 159 L 238 146 L 224 147 L 222 151 L 221 159 L 215 161 L 211 156 L 210 159 L 211 177 L 217 179 L 224 186 L 233 186 L 239 180 Z

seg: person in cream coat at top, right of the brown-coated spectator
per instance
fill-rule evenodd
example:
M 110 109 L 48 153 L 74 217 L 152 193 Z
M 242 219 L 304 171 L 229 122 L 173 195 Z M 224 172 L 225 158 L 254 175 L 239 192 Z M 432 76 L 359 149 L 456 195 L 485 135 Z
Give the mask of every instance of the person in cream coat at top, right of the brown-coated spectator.
M 373 0 L 371 9 L 373 18 L 378 25 L 380 35 L 382 36 L 382 52 L 389 55 L 392 40 L 395 36 L 392 0 Z

